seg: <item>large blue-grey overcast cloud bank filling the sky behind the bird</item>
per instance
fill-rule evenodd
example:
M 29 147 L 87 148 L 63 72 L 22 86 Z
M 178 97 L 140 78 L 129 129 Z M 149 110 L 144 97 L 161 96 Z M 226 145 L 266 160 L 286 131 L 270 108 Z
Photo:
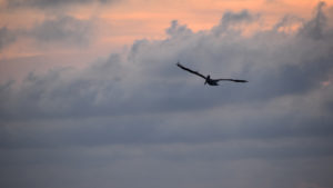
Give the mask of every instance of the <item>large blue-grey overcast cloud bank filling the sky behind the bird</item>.
M 0 86 L 0 186 L 332 187 L 333 28 L 324 10 L 319 3 L 296 30 L 302 19 L 284 17 L 251 34 L 262 18 L 249 10 L 199 32 L 174 20 L 164 40 Z M 52 22 L 67 23 L 78 22 Z M 40 40 L 81 40 L 46 24 Z M 13 40 L 6 28 L 0 34 L 0 48 Z M 176 61 L 250 82 L 206 87 Z

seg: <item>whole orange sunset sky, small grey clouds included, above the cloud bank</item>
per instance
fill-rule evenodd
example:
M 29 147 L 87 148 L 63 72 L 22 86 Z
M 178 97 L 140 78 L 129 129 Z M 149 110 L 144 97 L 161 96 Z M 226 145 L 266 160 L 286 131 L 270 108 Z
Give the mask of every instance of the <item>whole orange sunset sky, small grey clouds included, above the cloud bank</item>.
M 330 1 L 325 1 L 331 4 Z M 225 11 L 260 16 L 250 29 L 271 29 L 285 16 L 310 19 L 313 0 L 0 0 L 1 82 L 52 67 L 83 67 L 131 48 L 163 40 L 172 20 L 194 32 L 219 24 Z M 296 24 L 295 24 L 296 26 Z M 24 69 L 24 70 L 23 70 Z

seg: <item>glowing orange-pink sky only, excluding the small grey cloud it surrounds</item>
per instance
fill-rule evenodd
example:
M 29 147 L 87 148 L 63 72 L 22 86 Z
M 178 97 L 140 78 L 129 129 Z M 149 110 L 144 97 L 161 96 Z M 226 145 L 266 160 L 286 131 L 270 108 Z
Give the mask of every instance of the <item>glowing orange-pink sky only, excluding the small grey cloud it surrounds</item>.
M 54 56 L 61 56 L 67 58 L 58 63 L 80 67 L 92 59 L 121 51 L 124 46 L 130 47 L 134 40 L 165 38 L 165 29 L 170 27 L 172 20 L 178 20 L 180 24 L 186 24 L 196 32 L 216 26 L 225 11 L 246 9 L 262 17 L 261 22 L 255 24 L 256 28 L 270 28 L 285 14 L 310 18 L 317 4 L 317 1 L 313 0 L 120 0 L 47 8 L 32 6 L 9 8 L 9 2 L 0 1 L 0 28 L 7 29 L 7 36 L 17 37 L 0 49 L 1 71 L 6 70 L 1 72 L 1 77 L 12 75 L 8 73 L 11 71 L 16 72 L 19 67 L 17 63 L 21 66 L 23 63 L 21 61 L 24 61 L 23 66 L 39 69 L 41 62 L 30 62 L 26 58 L 42 57 L 44 61 L 53 62 Z M 327 6 L 333 4 L 333 0 L 325 2 Z M 65 39 L 62 41 L 64 44 L 57 40 L 41 43 L 41 40 L 31 34 L 34 27 L 44 27 L 42 23 L 46 20 L 63 17 L 89 22 L 89 26 L 85 26 L 89 28 L 89 42 L 75 46 L 69 44 Z M 253 28 L 249 28 L 251 29 Z M 8 63 L 9 61 L 14 63 Z M 46 67 L 52 67 L 50 65 L 52 63 L 47 63 Z

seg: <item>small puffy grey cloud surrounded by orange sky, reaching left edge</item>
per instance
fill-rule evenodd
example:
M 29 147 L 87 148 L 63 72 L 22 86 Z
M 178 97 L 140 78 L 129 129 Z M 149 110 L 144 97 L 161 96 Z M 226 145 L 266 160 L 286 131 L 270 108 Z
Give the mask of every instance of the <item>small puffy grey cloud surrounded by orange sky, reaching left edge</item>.
M 87 46 L 94 38 L 93 20 L 81 20 L 70 16 L 58 16 L 34 23 L 29 29 L 0 29 L 0 49 L 18 41 L 32 39 L 38 46 Z

